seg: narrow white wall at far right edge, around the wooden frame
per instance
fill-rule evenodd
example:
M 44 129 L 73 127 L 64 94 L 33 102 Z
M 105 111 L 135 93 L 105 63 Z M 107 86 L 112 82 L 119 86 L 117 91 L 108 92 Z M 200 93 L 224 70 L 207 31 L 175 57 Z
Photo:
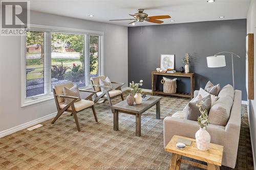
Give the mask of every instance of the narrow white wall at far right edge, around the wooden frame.
M 247 14 L 247 33 L 254 33 L 254 99 L 256 98 L 256 0 L 251 0 Z M 254 169 L 256 162 L 256 100 L 249 101 L 249 123 L 251 144 L 254 155 Z

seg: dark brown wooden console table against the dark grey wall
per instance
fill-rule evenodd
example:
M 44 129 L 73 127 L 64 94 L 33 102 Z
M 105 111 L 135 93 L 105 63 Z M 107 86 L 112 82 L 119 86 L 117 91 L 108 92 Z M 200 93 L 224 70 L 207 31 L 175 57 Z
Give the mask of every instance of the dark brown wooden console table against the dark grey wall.
M 183 98 L 193 98 L 194 95 L 194 86 L 195 86 L 195 74 L 194 73 L 182 73 L 182 72 L 176 72 L 176 73 L 167 73 L 167 72 L 158 72 L 158 71 L 152 71 L 151 74 L 152 78 L 152 95 L 155 94 L 165 94 L 165 95 L 173 95 L 173 96 L 180 96 Z M 190 79 L 190 93 L 187 92 L 181 92 L 177 91 L 174 94 L 168 94 L 164 93 L 162 90 L 157 89 L 156 82 L 158 76 L 172 76 L 172 77 L 185 77 Z

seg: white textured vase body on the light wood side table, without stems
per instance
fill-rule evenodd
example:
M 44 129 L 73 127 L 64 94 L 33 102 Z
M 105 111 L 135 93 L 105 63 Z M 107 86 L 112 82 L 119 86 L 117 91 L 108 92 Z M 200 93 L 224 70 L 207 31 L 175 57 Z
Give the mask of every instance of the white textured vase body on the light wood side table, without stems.
M 207 151 L 210 144 L 210 134 L 203 128 L 196 133 L 197 148 L 201 151 Z

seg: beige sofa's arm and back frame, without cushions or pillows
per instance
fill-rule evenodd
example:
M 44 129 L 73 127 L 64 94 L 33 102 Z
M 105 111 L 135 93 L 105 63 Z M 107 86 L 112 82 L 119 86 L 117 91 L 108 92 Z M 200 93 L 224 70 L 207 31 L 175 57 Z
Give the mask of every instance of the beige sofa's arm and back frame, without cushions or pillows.
M 197 96 L 198 91 L 195 91 L 194 96 Z M 233 104 L 230 111 L 230 116 L 226 126 L 212 125 L 207 127 L 207 131 L 211 136 L 211 143 L 216 143 L 224 146 L 222 165 L 234 168 L 236 165 L 240 126 L 241 126 L 241 108 L 242 107 L 242 92 L 234 90 Z M 164 118 L 164 147 L 172 139 L 174 135 L 195 138 L 195 133 L 199 130 L 199 125 L 196 121 L 186 118 L 177 118 L 167 116 Z

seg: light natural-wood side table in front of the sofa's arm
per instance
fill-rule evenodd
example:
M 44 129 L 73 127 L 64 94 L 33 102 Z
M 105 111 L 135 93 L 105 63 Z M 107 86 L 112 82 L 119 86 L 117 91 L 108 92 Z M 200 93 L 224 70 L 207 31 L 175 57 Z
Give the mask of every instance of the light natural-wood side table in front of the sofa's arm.
M 186 148 L 184 150 L 179 150 L 176 148 L 176 140 L 178 138 L 191 140 L 192 143 L 190 146 L 186 145 Z M 172 159 L 170 160 L 169 167 L 170 170 L 180 169 L 181 163 L 190 164 L 191 166 L 197 166 L 209 170 L 219 170 L 222 162 L 223 146 L 210 143 L 208 151 L 200 151 L 199 149 L 197 149 L 197 143 L 195 139 L 174 135 L 173 138 L 166 145 L 165 151 L 172 153 Z M 207 162 L 207 165 L 182 159 L 182 156 Z

